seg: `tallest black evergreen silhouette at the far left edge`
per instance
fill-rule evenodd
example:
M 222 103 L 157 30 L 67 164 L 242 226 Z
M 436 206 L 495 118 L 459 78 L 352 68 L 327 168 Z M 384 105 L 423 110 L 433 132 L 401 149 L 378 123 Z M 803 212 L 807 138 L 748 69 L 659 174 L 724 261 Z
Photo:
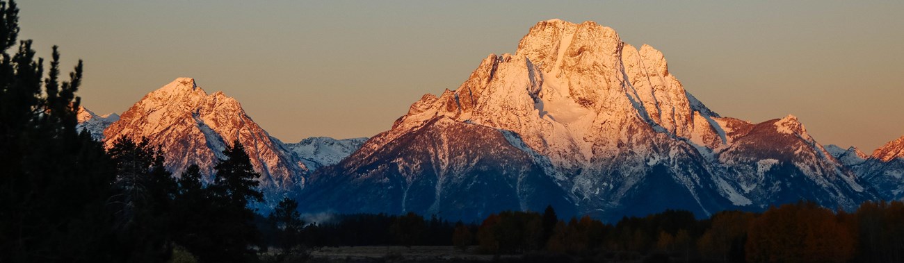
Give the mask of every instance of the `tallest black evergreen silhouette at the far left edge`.
M 61 82 L 56 47 L 45 72 L 18 32 L 14 1 L 0 1 L 0 261 L 108 259 L 113 166 L 75 129 L 81 61 Z

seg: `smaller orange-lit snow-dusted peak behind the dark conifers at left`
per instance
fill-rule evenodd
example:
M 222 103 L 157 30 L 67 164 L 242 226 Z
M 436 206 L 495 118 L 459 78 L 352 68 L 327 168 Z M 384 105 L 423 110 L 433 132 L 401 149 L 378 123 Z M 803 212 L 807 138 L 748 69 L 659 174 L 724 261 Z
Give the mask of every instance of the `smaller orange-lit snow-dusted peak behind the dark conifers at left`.
M 238 139 L 269 195 L 302 186 L 307 170 L 282 142 L 251 120 L 238 101 L 221 92 L 208 95 L 189 77 L 145 95 L 104 136 L 107 147 L 122 137 L 146 138 L 161 147 L 165 165 L 174 174 L 197 164 L 208 178 L 217 159 L 223 158 L 221 151 Z

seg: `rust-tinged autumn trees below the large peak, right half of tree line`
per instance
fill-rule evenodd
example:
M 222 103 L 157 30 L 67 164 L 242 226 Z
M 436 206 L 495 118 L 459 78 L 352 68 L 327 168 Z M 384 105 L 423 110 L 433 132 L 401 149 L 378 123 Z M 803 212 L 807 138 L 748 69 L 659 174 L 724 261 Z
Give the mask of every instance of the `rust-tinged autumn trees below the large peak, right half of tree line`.
M 485 253 L 543 252 L 600 262 L 904 262 L 899 201 L 866 202 L 852 213 L 801 201 L 702 220 L 674 210 L 614 224 L 588 216 L 553 218 L 551 207 L 542 214 L 492 214 L 475 234 L 457 229 L 453 240 Z

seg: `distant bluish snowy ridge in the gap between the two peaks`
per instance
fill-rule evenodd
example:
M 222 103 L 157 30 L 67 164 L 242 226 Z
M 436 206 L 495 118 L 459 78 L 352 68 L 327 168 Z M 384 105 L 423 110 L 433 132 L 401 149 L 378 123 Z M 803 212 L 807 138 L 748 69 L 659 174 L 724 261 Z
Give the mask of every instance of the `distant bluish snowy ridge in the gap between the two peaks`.
M 311 170 L 339 163 L 351 155 L 367 138 L 337 140 L 329 137 L 310 137 L 286 146 L 297 154 L 305 166 Z

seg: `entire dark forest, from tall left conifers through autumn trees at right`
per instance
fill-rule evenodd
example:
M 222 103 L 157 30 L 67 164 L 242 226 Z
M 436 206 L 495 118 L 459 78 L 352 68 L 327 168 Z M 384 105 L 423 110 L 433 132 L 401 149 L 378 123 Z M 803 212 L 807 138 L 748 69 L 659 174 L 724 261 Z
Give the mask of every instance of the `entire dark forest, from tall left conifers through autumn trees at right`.
M 250 208 L 263 201 L 259 174 L 238 141 L 210 183 L 197 167 L 167 171 L 144 141 L 105 149 L 76 130 L 81 61 L 62 81 L 57 48 L 44 68 L 18 32 L 14 1 L 0 1 L 0 262 L 295 262 L 319 247 L 375 245 L 539 261 L 904 262 L 900 202 L 853 212 L 800 202 L 702 220 L 665 211 L 614 223 L 562 220 L 551 207 L 483 222 L 414 213 L 304 222 L 290 199 L 259 214 Z

